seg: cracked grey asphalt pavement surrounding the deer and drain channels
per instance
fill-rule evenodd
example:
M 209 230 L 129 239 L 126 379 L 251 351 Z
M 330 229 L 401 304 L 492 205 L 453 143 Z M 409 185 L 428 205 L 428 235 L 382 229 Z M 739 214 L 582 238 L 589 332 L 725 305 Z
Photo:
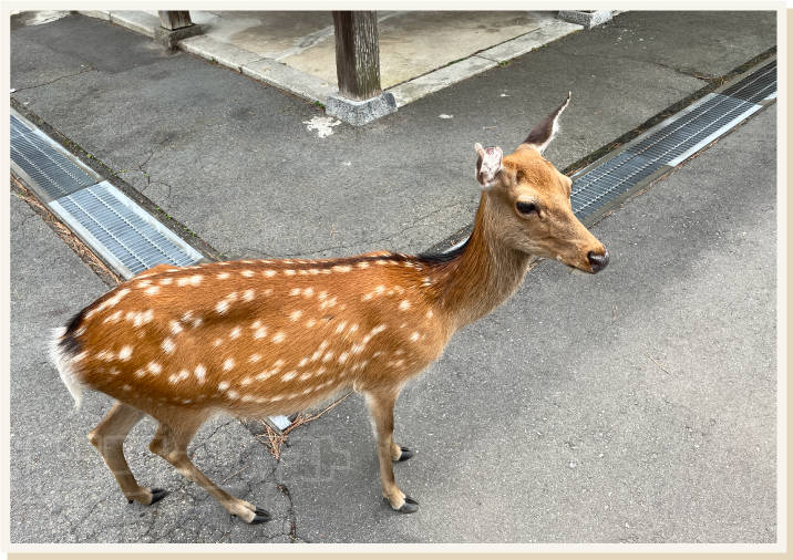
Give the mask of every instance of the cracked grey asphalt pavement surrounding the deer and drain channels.
M 627 12 L 320 136 L 315 105 L 69 15 L 12 30 L 11 97 L 210 255 L 421 251 L 473 219 L 474 143 L 511 151 L 571 91 L 545 153 L 563 169 L 768 52 L 775 29 L 773 12 Z M 238 421 L 205 426 L 193 460 L 269 510 L 262 526 L 151 454 L 151 421 L 127 457 L 171 494 L 127 505 L 85 438 L 110 398 L 74 414 L 47 359 L 50 329 L 107 284 L 12 189 L 11 542 L 774 543 L 776 183 L 771 105 L 595 225 L 605 271 L 542 262 L 457 333 L 396 404 L 415 515 L 381 499 L 358 395 L 280 462 Z

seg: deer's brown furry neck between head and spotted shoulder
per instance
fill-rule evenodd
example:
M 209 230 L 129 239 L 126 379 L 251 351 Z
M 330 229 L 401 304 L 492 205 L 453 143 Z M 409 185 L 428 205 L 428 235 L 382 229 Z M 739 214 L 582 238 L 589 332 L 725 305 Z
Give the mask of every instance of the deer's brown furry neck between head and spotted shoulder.
M 528 270 L 532 256 L 501 242 L 497 226 L 483 195 L 471 239 L 452 260 L 435 267 L 443 287 L 436 303 L 449 318 L 452 332 L 506 301 Z

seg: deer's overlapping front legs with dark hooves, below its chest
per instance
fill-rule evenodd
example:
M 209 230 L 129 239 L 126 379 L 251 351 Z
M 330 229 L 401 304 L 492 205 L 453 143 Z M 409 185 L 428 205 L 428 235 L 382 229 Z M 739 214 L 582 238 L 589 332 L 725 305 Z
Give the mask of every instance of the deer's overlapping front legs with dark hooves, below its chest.
M 389 500 L 391 507 L 400 514 L 412 514 L 419 510 L 419 502 L 404 495 L 396 487 L 392 460 L 400 460 L 402 455 L 412 452 L 402 449 L 393 442 L 394 432 L 394 404 L 399 391 L 390 393 L 365 393 L 369 418 L 372 422 L 374 439 L 378 444 L 378 457 L 380 459 L 380 484 L 383 488 L 383 497 Z M 409 457 L 405 457 L 409 458 Z M 404 459 L 402 459 L 404 460 Z

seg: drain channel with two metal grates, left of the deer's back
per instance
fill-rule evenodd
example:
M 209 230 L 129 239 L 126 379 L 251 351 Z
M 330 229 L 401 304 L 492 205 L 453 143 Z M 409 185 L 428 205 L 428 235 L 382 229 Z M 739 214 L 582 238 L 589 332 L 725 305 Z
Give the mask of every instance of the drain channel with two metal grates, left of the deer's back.
M 13 108 L 11 170 L 124 279 L 162 263 L 208 262 Z

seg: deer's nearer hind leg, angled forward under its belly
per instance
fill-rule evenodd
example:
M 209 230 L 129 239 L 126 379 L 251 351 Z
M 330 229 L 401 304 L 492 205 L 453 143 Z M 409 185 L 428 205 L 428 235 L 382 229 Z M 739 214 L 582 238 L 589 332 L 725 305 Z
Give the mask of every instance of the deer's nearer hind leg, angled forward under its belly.
M 264 523 L 270 520 L 270 514 L 259 509 L 253 504 L 231 496 L 213 483 L 204 473 L 198 470 L 187 456 L 187 445 L 206 417 L 203 414 L 179 415 L 178 424 L 167 419 L 157 418 L 159 426 L 148 448 L 171 463 L 176 470 L 189 481 L 199 485 L 208 491 L 233 516 L 251 525 Z

